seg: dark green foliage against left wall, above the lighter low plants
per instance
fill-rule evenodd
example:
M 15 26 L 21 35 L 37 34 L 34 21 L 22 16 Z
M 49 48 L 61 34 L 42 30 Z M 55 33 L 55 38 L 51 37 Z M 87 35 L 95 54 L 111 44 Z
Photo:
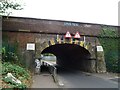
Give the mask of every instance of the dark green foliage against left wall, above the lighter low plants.
M 19 54 L 18 54 L 18 42 L 9 43 L 8 36 L 3 35 L 2 42 L 2 61 L 12 62 L 12 63 L 20 63 L 19 62 Z

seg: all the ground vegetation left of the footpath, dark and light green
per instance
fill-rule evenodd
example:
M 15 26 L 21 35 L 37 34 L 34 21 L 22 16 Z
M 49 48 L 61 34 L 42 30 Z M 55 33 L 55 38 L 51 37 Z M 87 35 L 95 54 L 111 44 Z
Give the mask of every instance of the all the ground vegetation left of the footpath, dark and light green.
M 20 88 L 25 89 L 30 87 L 32 78 L 31 73 L 20 63 L 20 58 L 17 55 L 18 45 L 13 43 L 11 45 L 7 42 L 3 42 L 2 48 L 2 88 Z M 11 78 L 7 78 L 7 74 L 11 73 L 15 78 L 22 83 L 18 84 L 12 81 Z

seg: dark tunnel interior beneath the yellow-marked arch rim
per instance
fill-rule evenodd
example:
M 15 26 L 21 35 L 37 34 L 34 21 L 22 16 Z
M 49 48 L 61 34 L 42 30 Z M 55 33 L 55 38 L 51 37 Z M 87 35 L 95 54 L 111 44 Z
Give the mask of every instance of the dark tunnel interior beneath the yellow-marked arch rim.
M 63 68 L 90 71 L 90 53 L 77 44 L 55 44 L 45 48 L 41 54 L 52 53 L 57 65 Z

